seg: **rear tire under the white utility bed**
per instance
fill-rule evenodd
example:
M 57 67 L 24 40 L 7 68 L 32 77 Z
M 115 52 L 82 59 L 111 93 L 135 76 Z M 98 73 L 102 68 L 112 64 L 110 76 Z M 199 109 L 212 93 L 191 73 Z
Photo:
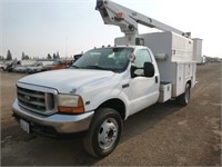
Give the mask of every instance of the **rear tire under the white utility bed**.
M 186 106 L 189 104 L 190 97 L 191 97 L 191 86 L 190 84 L 186 82 L 185 91 L 176 98 L 176 101 L 181 106 Z

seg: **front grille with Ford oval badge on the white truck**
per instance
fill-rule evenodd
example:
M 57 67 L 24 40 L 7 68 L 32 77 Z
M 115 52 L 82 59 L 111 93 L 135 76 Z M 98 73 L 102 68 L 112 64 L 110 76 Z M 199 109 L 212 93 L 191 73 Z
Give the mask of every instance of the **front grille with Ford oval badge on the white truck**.
M 19 105 L 33 112 L 51 114 L 54 111 L 54 95 L 39 90 L 17 87 Z

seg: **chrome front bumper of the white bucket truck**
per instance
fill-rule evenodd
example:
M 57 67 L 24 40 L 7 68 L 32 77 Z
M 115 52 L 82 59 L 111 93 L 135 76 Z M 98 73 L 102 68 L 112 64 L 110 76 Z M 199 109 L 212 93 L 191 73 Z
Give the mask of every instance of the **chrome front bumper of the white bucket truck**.
M 26 111 L 19 107 L 18 100 L 14 100 L 12 111 L 17 119 L 23 119 L 33 127 L 53 129 L 57 134 L 73 134 L 87 130 L 94 114 L 94 111 L 90 111 L 82 115 L 54 114 L 51 116 L 41 116 Z

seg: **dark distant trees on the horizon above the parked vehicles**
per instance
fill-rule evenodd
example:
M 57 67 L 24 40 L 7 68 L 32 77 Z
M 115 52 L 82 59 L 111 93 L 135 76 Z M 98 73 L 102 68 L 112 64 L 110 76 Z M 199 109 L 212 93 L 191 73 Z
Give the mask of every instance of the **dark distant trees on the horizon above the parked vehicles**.
M 23 51 L 21 53 L 21 59 L 22 60 L 28 60 L 31 59 L 30 56 L 26 55 Z M 50 53 L 47 55 L 47 59 L 60 59 L 59 51 L 57 53 L 53 53 L 52 56 Z M 7 57 L 4 58 L 3 56 L 0 56 L 0 60 L 12 60 L 12 53 L 10 50 L 7 51 Z

